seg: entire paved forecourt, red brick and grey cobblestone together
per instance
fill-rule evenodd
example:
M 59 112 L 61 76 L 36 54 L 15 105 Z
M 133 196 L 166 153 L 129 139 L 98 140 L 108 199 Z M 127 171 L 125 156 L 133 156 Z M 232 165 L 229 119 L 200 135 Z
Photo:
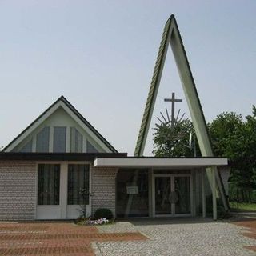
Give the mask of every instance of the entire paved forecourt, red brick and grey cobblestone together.
M 256 255 L 256 220 L 231 221 L 140 219 L 98 228 L 70 222 L 0 222 L 0 255 Z

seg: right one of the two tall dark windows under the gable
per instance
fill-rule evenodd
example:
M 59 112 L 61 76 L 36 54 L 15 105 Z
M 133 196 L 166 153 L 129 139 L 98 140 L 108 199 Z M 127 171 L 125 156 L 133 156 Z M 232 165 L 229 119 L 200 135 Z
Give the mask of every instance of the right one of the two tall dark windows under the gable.
M 89 205 L 89 165 L 69 165 L 68 205 Z

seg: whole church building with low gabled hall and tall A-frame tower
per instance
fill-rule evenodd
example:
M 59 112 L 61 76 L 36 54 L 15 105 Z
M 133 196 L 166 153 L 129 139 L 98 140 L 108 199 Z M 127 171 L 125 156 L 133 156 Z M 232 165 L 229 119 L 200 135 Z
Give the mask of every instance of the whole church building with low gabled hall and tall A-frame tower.
M 201 158 L 143 156 L 170 44 Z M 74 219 L 108 208 L 116 218 L 206 217 L 226 201 L 228 159 L 214 158 L 178 26 L 166 22 L 133 157 L 119 153 L 63 96 L 0 152 L 0 221 Z

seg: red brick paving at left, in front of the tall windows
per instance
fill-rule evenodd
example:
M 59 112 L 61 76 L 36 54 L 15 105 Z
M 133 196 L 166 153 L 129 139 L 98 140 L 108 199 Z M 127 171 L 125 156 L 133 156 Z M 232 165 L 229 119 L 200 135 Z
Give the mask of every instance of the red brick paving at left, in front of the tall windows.
M 0 255 L 92 256 L 94 241 L 129 241 L 146 239 L 138 232 L 100 233 L 94 226 L 69 222 L 0 222 Z

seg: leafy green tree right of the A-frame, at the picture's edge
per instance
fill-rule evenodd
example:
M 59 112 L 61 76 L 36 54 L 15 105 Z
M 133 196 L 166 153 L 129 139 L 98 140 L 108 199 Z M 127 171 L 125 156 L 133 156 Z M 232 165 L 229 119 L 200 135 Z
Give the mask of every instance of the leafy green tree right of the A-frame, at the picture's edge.
M 251 201 L 251 191 L 256 187 L 256 109 L 242 121 L 242 115 L 222 113 L 209 125 L 214 155 L 231 161 L 230 182 L 236 190 L 235 197 Z M 231 191 L 232 192 L 232 191 Z M 233 195 L 232 195 L 233 194 Z M 234 197 L 234 193 L 231 197 Z

